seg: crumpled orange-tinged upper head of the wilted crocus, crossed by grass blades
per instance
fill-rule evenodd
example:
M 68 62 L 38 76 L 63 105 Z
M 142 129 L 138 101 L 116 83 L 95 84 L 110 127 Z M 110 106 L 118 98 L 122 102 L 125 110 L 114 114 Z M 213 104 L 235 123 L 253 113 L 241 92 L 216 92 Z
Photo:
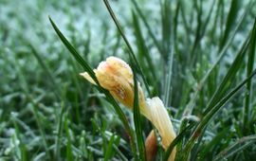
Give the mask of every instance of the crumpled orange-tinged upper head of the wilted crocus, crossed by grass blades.
M 101 86 L 107 89 L 114 98 L 130 109 L 134 107 L 134 78 L 132 69 L 127 63 L 117 57 L 109 57 L 105 62 L 101 62 L 94 72 Z M 86 72 L 81 75 L 96 84 Z M 137 86 L 139 107 L 143 109 L 145 98 L 139 83 Z

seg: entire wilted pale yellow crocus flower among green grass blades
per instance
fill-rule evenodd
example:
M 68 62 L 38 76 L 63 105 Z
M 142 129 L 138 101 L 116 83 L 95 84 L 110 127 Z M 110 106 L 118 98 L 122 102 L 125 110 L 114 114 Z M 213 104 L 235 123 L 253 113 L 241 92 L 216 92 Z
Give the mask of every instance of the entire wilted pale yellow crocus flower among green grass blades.
M 119 100 L 120 103 L 133 109 L 134 107 L 134 76 L 131 67 L 117 57 L 109 57 L 101 62 L 97 69 L 94 69 L 95 76 L 101 86 L 107 89 L 110 94 Z M 96 82 L 88 75 L 81 73 L 83 78 L 93 84 Z M 137 83 L 138 104 L 140 113 L 146 116 L 155 126 L 161 136 L 162 146 L 167 150 L 175 137 L 174 128 L 170 117 L 160 98 L 144 98 L 142 88 Z M 169 157 L 174 160 L 175 150 Z

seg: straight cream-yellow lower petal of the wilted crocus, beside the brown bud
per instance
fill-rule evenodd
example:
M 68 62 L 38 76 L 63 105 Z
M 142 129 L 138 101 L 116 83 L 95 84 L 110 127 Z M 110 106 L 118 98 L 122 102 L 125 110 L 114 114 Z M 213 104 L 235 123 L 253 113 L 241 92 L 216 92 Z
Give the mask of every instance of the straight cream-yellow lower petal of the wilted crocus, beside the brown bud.
M 146 117 L 154 124 L 161 136 L 162 146 L 165 150 L 167 150 L 169 145 L 174 141 L 176 134 L 162 100 L 160 98 L 148 98 L 146 109 Z M 169 161 L 174 161 L 174 157 L 175 149 L 171 153 Z

